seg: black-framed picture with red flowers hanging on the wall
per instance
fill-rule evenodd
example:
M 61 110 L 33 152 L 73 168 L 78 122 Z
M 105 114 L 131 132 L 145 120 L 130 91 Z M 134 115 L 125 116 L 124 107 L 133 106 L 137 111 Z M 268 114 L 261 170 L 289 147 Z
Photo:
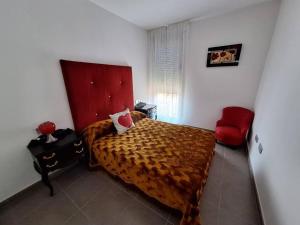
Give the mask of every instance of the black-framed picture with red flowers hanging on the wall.
M 238 66 L 241 49 L 242 44 L 209 48 L 206 66 Z

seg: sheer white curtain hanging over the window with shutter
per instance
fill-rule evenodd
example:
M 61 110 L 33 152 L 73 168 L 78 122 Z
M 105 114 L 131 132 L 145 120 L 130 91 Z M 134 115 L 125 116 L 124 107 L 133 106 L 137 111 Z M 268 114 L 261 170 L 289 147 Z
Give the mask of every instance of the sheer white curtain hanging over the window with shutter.
M 148 31 L 149 100 L 158 119 L 180 123 L 188 22 Z

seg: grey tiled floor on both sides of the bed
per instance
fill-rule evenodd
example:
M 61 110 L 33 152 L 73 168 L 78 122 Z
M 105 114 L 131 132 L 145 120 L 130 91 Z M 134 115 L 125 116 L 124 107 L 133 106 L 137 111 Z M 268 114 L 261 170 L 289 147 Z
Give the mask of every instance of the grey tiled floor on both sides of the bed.
M 0 208 L 1 225 L 175 225 L 180 214 L 104 171 L 76 166 Z M 246 154 L 216 146 L 200 205 L 203 225 L 259 225 Z

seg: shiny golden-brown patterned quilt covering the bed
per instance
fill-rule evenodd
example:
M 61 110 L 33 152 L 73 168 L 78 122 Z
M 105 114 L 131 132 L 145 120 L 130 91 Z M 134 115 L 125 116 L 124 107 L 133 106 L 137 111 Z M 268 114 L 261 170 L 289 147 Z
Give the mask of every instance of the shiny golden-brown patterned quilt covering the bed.
M 183 213 L 181 225 L 200 224 L 198 202 L 213 158 L 214 133 L 144 118 L 132 112 L 135 127 L 121 135 L 112 121 L 85 129 L 97 163 L 147 195 Z

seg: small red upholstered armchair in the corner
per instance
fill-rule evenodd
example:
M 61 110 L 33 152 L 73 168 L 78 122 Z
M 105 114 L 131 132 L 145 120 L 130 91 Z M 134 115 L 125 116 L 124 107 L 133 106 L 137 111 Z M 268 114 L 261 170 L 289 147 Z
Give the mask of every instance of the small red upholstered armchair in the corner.
M 217 141 L 231 146 L 242 145 L 254 118 L 254 113 L 242 107 L 226 107 L 217 121 Z

